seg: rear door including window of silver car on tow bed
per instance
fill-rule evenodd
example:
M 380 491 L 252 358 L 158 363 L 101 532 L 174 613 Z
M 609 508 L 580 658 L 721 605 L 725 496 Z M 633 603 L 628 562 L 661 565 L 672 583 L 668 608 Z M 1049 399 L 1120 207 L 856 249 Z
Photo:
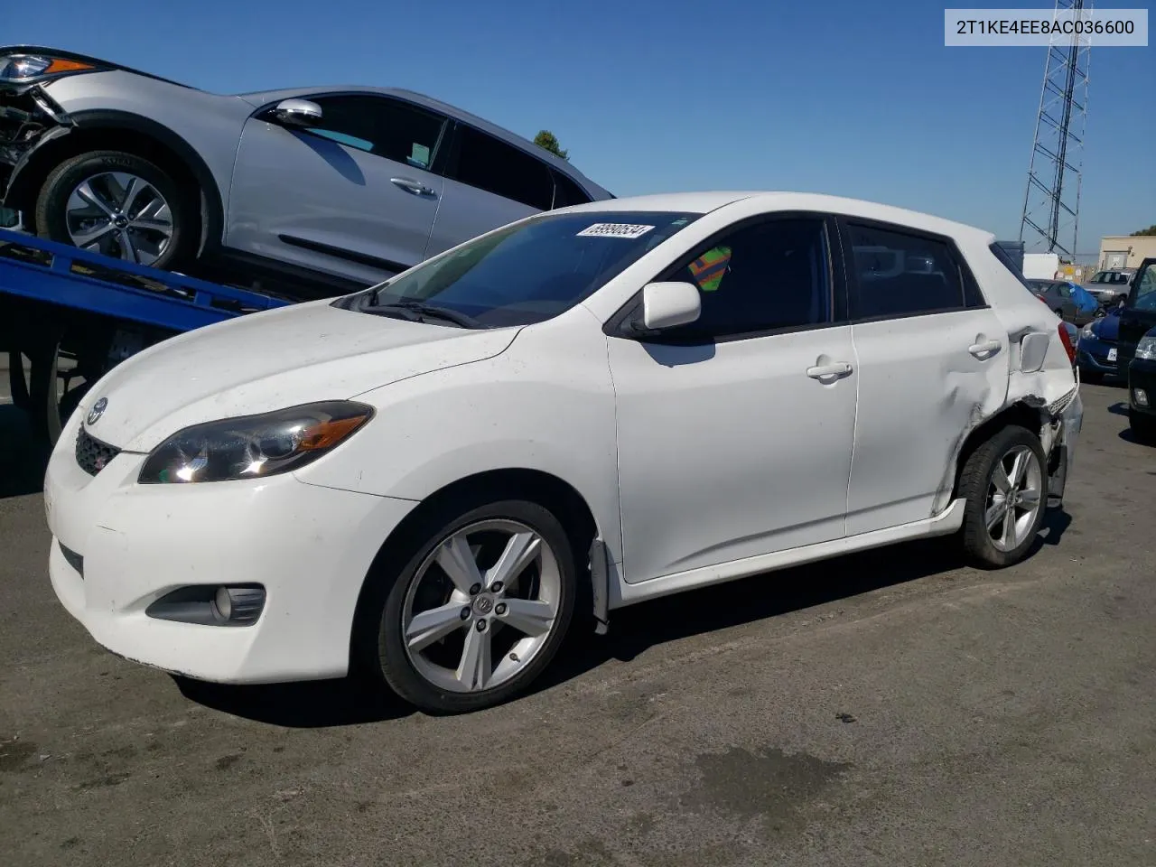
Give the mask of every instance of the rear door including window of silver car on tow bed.
M 458 124 L 446 158 L 442 198 L 427 257 L 549 210 L 554 203 L 554 175 L 546 163 L 520 148 Z

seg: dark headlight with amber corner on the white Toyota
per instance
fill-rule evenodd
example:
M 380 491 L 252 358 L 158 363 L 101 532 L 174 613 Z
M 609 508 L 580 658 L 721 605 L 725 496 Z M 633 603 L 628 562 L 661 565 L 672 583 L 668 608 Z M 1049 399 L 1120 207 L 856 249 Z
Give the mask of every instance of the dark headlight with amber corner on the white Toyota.
M 154 449 L 136 481 L 224 482 L 284 473 L 344 442 L 372 415 L 372 407 L 339 400 L 194 424 Z

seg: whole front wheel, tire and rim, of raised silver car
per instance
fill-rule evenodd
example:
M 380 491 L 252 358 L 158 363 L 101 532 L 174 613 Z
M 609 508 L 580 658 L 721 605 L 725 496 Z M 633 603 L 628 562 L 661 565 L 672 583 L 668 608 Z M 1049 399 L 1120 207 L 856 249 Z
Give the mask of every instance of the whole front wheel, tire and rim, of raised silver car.
M 195 191 L 134 154 L 94 150 L 66 160 L 36 200 L 40 235 L 116 259 L 172 268 L 199 235 Z

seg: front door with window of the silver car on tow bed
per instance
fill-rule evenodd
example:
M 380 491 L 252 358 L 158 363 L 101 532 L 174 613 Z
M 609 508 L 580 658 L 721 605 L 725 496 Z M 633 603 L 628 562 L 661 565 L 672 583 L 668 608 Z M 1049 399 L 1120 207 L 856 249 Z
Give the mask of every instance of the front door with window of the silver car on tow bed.
M 245 124 L 225 244 L 365 283 L 422 261 L 449 119 L 376 94 L 307 98 L 321 106 L 316 127 L 260 112 Z

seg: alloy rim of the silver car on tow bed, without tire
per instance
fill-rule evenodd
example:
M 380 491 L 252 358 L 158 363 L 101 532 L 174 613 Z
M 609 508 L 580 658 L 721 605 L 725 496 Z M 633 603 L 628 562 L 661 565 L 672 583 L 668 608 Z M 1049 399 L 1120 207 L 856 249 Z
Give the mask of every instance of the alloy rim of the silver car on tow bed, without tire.
M 65 206 L 68 236 L 82 250 L 151 265 L 172 242 L 172 208 L 136 175 L 102 172 L 86 178 Z

